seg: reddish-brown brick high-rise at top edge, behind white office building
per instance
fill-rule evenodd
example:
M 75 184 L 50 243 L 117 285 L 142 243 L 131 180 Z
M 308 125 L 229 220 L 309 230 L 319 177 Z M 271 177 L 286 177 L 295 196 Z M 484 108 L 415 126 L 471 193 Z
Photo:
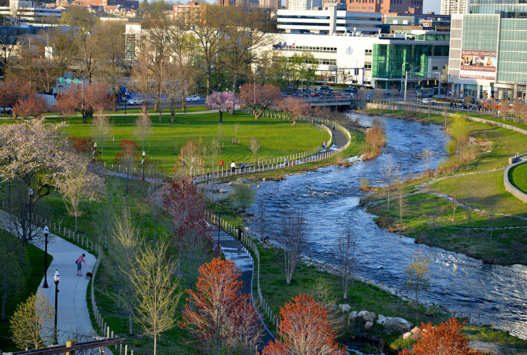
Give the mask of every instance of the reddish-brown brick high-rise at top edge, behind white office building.
M 381 12 L 383 15 L 423 13 L 423 0 L 347 0 L 348 11 Z

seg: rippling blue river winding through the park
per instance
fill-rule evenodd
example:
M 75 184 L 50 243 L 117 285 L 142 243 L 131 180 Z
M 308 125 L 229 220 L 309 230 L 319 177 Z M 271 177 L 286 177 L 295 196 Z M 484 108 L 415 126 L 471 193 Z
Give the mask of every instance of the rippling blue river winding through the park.
M 435 154 L 430 168 L 446 159 L 444 149 L 449 140 L 440 126 L 388 118 L 351 114 L 363 125 L 377 121 L 386 129 L 386 152 L 408 177 L 424 171 L 418 154 L 429 148 Z M 432 286 L 420 300 L 442 304 L 454 315 L 467 315 L 473 321 L 493 324 L 511 334 L 527 338 L 527 267 L 488 265 L 464 254 L 428 245 L 418 245 L 406 236 L 392 234 L 378 227 L 358 201 L 363 192 L 358 187 L 361 176 L 370 184 L 382 184 L 382 163 L 386 154 L 367 162 L 358 161 L 349 168 L 329 166 L 312 173 L 288 176 L 279 182 L 264 182 L 257 189 L 258 213 L 266 206 L 270 220 L 268 234 L 278 233 L 281 214 L 292 208 L 304 209 L 311 216 L 312 232 L 306 254 L 331 263 L 331 247 L 346 227 L 357 237 L 356 273 L 365 279 L 404 291 L 404 269 L 415 251 L 432 257 Z M 257 218 L 248 227 L 256 232 Z

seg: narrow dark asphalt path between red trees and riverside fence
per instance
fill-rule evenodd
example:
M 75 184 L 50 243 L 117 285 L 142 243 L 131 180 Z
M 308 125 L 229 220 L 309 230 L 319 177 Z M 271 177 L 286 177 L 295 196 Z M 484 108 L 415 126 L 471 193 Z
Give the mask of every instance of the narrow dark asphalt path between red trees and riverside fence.
M 212 230 L 212 238 L 218 240 L 218 227 L 213 225 Z M 254 264 L 252 263 L 250 253 L 239 241 L 236 241 L 236 239 L 232 238 L 230 234 L 227 234 L 223 230 L 220 230 L 220 246 L 221 251 L 225 254 L 225 258 L 234 261 L 236 266 L 241 269 L 241 281 L 243 281 L 243 288 L 241 291 L 248 295 L 252 295 L 252 272 L 254 270 Z M 252 299 L 254 300 L 254 298 Z M 267 329 L 263 320 L 262 324 L 264 325 L 264 334 L 259 346 L 260 351 L 267 343 L 275 339 L 273 334 Z

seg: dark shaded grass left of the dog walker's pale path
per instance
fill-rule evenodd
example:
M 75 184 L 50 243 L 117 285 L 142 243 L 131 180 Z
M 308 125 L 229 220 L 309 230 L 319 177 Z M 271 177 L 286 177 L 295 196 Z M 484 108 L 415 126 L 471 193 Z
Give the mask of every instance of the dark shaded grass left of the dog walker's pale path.
M 26 283 L 24 289 L 19 292 L 17 297 L 12 300 L 6 301 L 6 322 L 0 322 L 0 349 L 2 352 L 15 352 L 21 349 L 17 348 L 15 343 L 12 342 L 12 332 L 10 330 L 10 318 L 15 313 L 17 305 L 21 302 L 25 302 L 29 296 L 33 295 L 40 287 L 42 281 L 42 265 L 44 265 L 44 252 L 35 245 L 26 244 L 26 255 L 28 257 L 29 272 L 26 275 Z M 53 261 L 53 257 L 48 254 L 48 265 Z M 0 298 L 1 300 L 1 298 Z M 53 302 L 53 300 L 48 300 Z

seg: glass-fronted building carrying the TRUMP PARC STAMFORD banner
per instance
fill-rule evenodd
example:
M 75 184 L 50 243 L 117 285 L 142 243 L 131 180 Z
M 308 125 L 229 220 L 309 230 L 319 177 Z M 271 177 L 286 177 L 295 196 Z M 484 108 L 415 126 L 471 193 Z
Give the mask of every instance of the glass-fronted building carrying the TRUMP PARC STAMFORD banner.
M 527 85 L 527 1 L 473 0 L 453 15 L 449 82 L 459 96 L 521 98 Z

